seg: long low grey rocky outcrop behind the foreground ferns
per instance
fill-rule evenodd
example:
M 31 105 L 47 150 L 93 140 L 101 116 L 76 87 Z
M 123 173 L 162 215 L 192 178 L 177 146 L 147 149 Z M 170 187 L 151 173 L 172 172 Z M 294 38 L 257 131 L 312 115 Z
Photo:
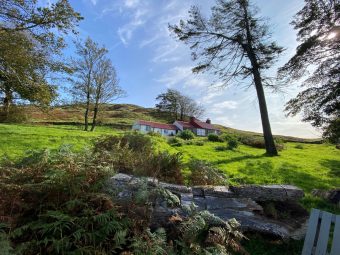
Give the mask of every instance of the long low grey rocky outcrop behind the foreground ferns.
M 117 174 L 110 179 L 109 188 L 116 192 L 120 200 L 136 195 L 138 184 L 148 188 L 161 187 L 177 196 L 179 204 L 169 207 L 164 201 L 153 204 L 151 225 L 159 227 L 173 215 L 185 215 L 185 207 L 196 206 L 197 210 L 207 210 L 222 220 L 235 218 L 244 231 L 256 231 L 279 236 L 281 238 L 300 239 L 304 235 L 307 213 L 294 217 L 268 217 L 267 205 L 271 208 L 276 203 L 284 208 L 285 203 L 298 206 L 297 200 L 304 196 L 301 189 L 291 185 L 243 185 L 243 186 L 195 186 L 186 187 L 159 182 L 157 179 L 140 179 Z M 283 207 L 282 207 L 283 205 Z M 301 209 L 301 208 L 300 208 Z M 303 209 L 302 209 L 303 210 Z M 303 210 L 304 211 L 304 210 Z

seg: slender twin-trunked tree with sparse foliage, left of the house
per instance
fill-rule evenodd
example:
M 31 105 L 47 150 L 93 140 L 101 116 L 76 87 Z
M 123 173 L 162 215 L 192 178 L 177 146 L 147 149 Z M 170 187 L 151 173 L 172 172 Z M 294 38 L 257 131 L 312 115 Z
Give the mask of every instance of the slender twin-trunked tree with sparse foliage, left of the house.
M 88 130 L 90 106 L 94 103 L 91 131 L 96 126 L 99 104 L 114 100 L 124 94 L 118 86 L 116 71 L 111 60 L 106 57 L 108 50 L 99 46 L 91 38 L 78 42 L 77 59 L 72 60 L 72 93 L 76 101 L 85 102 L 85 131 Z

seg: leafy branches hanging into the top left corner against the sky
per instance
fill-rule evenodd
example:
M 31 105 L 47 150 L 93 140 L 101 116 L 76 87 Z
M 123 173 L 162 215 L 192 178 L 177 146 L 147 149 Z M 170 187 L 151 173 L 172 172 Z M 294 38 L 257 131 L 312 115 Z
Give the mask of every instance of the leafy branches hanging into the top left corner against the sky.
M 75 25 L 83 18 L 68 0 L 57 0 L 40 6 L 37 0 L 0 1 L 0 32 L 25 31 L 32 38 L 56 51 L 63 46 L 62 33 L 75 33 Z M 56 29 L 61 34 L 55 33 Z

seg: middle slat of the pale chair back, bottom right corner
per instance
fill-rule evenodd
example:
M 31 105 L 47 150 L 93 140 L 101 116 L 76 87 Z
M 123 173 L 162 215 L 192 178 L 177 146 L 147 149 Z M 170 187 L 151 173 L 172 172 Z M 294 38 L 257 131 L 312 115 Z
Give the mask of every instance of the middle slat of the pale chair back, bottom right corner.
M 326 254 L 331 223 L 332 223 L 332 214 L 329 212 L 322 212 L 319 239 L 318 239 L 318 244 L 316 245 L 315 255 Z

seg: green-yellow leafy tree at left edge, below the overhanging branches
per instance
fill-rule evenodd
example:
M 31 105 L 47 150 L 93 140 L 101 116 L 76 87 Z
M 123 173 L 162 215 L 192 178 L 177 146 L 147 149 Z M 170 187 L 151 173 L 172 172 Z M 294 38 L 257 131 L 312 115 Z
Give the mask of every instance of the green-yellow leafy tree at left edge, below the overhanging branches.
M 0 37 L 0 98 L 6 116 L 15 99 L 48 105 L 56 95 L 46 80 L 50 53 L 23 32 L 0 32 Z

